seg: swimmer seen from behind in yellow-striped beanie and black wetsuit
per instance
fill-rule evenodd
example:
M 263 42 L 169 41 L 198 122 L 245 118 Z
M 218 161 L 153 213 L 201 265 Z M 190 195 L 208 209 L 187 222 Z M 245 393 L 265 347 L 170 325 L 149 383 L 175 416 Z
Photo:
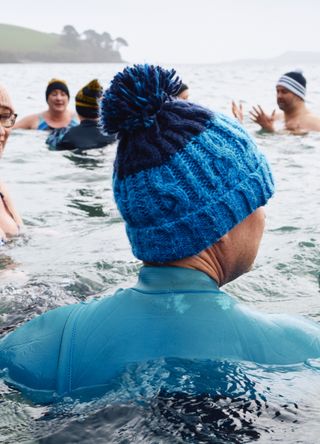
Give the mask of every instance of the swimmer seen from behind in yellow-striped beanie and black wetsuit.
M 99 102 L 103 93 L 97 79 L 91 80 L 76 95 L 76 111 L 80 125 L 70 128 L 56 144 L 57 151 L 103 148 L 115 141 L 114 135 L 102 134 L 99 125 Z M 48 138 L 49 139 L 49 138 Z M 47 143 L 50 140 L 47 140 Z M 49 143 L 50 144 L 50 143 Z M 51 144 L 52 147 L 52 144 Z

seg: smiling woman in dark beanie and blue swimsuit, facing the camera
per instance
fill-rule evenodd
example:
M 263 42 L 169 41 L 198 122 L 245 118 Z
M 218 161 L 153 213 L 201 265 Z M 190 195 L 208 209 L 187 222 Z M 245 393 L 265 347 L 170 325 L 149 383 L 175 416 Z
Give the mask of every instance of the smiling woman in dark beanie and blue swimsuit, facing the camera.
M 70 92 L 64 80 L 51 79 L 45 91 L 48 109 L 18 120 L 14 129 L 60 130 L 78 125 L 75 114 L 68 109 Z

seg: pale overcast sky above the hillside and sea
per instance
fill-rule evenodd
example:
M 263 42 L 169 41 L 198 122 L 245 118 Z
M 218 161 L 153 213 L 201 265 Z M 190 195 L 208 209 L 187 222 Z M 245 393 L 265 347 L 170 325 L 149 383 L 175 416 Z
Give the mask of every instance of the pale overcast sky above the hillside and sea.
M 320 51 L 318 0 L 15 0 L 0 23 L 122 37 L 130 63 L 219 63 Z

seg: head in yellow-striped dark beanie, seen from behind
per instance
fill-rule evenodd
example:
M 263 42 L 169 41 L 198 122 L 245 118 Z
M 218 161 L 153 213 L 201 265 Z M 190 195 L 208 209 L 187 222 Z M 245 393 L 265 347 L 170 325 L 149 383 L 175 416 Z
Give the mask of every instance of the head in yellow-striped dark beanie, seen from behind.
M 103 88 L 97 79 L 91 80 L 78 91 L 76 95 L 76 111 L 80 119 L 97 120 L 99 117 L 99 102 Z

